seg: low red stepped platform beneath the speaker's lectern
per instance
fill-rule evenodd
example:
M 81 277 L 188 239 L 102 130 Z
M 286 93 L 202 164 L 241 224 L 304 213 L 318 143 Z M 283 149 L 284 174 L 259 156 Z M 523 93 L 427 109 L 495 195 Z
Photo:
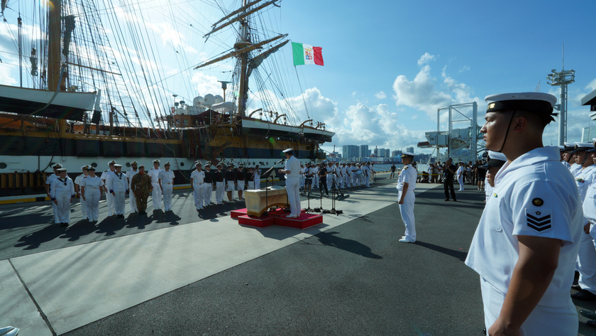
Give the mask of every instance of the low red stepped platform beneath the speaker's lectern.
M 242 215 L 244 213 L 244 215 Z M 300 213 L 297 218 L 288 218 L 288 212 L 277 209 L 275 212 L 270 212 L 267 216 L 253 217 L 246 214 L 246 209 L 234 210 L 231 214 L 232 218 L 238 218 L 238 224 L 248 225 L 250 227 L 268 227 L 272 224 L 279 225 L 281 227 L 293 227 L 294 229 L 306 229 L 316 224 L 323 222 L 322 215 L 309 214 L 304 212 Z

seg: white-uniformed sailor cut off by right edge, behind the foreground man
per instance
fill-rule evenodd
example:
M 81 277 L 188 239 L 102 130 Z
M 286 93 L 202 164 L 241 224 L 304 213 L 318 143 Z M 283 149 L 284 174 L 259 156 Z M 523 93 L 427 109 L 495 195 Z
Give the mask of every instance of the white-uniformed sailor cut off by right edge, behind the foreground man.
M 587 199 L 588 190 L 596 182 L 595 154 L 594 143 L 575 143 L 573 158 L 575 159 L 575 164 L 582 167 L 575 174 L 575 185 L 578 187 L 584 212 L 589 212 L 590 208 L 594 207 L 594 205 L 590 204 L 594 202 L 594 195 L 591 195 L 587 202 L 585 200 Z M 589 234 L 589 219 L 584 218 L 583 224 L 585 233 L 581 236 L 580 250 L 578 252 L 578 271 L 580 273 L 578 284 L 581 290 L 578 293 L 573 293 L 571 297 L 578 300 L 596 300 L 596 249 L 594 247 L 594 239 Z

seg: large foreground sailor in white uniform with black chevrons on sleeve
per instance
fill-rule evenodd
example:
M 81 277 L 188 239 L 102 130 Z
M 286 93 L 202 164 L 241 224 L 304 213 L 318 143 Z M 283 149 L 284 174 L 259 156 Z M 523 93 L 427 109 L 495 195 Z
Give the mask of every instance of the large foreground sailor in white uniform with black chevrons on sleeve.
M 488 335 L 575 336 L 569 295 L 583 227 L 573 176 L 543 147 L 556 97 L 493 94 L 480 131 L 507 163 L 495 177 L 465 264 L 480 274 Z

